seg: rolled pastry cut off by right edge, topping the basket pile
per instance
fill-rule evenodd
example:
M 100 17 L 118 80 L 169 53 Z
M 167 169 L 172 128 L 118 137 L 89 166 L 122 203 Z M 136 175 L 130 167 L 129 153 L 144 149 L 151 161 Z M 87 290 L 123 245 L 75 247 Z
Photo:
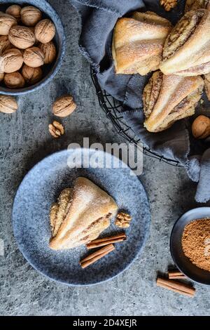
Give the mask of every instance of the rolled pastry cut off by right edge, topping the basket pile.
M 210 11 L 188 11 L 170 32 L 162 55 L 164 74 L 198 76 L 210 72 Z

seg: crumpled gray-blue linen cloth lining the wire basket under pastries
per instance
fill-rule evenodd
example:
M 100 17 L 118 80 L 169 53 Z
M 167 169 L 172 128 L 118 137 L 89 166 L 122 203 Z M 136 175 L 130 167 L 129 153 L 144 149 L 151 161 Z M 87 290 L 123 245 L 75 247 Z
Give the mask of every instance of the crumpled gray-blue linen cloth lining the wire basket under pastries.
M 136 10 L 154 11 L 176 24 L 183 15 L 185 1 L 166 12 L 159 0 L 71 0 L 80 15 L 80 52 L 91 63 L 99 84 L 114 98 L 123 102 L 123 117 L 151 150 L 167 158 L 178 160 L 186 167 L 191 180 L 199 182 L 195 199 L 207 202 L 210 199 L 210 150 L 197 154 L 196 141 L 190 143 L 190 125 L 186 120 L 177 121 L 167 131 L 149 133 L 144 128 L 142 91 L 151 74 L 115 74 L 111 55 L 113 27 L 118 18 Z M 192 147 L 193 146 L 193 147 Z M 207 149 L 207 146 L 206 146 Z

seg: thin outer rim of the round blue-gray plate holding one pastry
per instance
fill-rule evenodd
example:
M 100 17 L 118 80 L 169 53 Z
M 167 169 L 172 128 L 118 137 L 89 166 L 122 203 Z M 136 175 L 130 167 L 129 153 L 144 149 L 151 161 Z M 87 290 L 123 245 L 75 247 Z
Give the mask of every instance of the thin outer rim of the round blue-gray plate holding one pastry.
M 84 150 L 86 150 L 87 148 L 83 148 Z M 92 148 L 89 148 L 89 150 L 94 150 Z M 29 176 L 29 173 L 31 171 L 34 170 L 34 168 L 36 168 L 37 166 L 39 166 L 39 164 L 42 162 L 42 161 L 45 161 L 46 159 L 50 158 L 50 157 L 53 157 L 53 155 L 55 154 L 62 154 L 66 152 L 66 150 L 59 150 L 57 152 L 54 152 L 52 154 L 49 154 L 48 156 L 44 157 L 43 159 L 41 159 L 41 161 L 38 161 L 38 163 L 36 163 L 28 172 L 27 174 L 25 175 L 25 177 L 22 179 L 22 182 L 20 183 L 20 185 L 22 185 L 22 183 L 24 182 L 25 178 L 27 178 L 27 176 Z M 106 152 L 104 152 L 106 154 Z M 112 155 L 111 157 L 114 157 L 114 155 Z M 122 163 L 123 163 L 123 160 L 120 160 Z M 127 167 L 129 167 L 128 165 L 126 165 Z M 132 171 L 132 169 L 130 169 L 130 171 Z M 146 197 L 148 199 L 148 194 L 146 192 L 146 189 L 143 185 L 143 183 L 141 183 L 141 180 L 139 180 L 139 183 L 142 185 L 143 189 L 144 189 L 144 192 L 146 194 Z M 13 201 L 13 206 L 15 204 L 15 199 L 16 199 L 16 196 L 18 194 L 18 190 L 20 188 L 20 185 L 18 186 L 18 189 L 15 193 L 15 198 L 14 198 L 14 201 Z M 132 258 L 132 260 L 130 260 L 129 263 L 127 263 L 127 266 L 123 269 L 123 270 L 120 270 L 120 272 L 118 272 L 116 275 L 113 275 L 107 279 L 104 279 L 104 280 L 101 280 L 99 282 L 93 282 L 93 283 L 90 283 L 90 284 L 67 284 L 66 282 L 64 281 L 61 281 L 61 280 L 58 280 L 58 279 L 54 279 L 53 277 L 50 277 L 50 275 L 47 275 L 45 273 L 43 273 L 41 270 L 39 270 L 36 265 L 34 265 L 33 262 L 31 262 L 31 260 L 29 258 L 27 258 L 27 256 L 25 256 L 25 253 L 22 251 L 21 247 L 20 247 L 20 244 L 19 242 L 16 240 L 16 237 L 15 237 L 15 234 L 14 234 L 14 230 L 13 230 L 13 235 L 15 237 L 15 242 L 16 244 L 18 244 L 18 249 L 20 251 L 20 253 L 22 253 L 22 256 L 24 256 L 24 258 L 27 260 L 27 263 L 29 263 L 29 265 L 31 265 L 39 274 L 45 276 L 46 278 L 50 279 L 51 281 L 53 282 L 57 282 L 57 283 L 61 283 L 61 284 L 64 284 L 65 286 L 78 286 L 78 287 L 84 287 L 84 286 L 96 286 L 98 284 L 102 284 L 102 283 L 106 283 L 106 282 L 109 282 L 111 281 L 112 279 L 115 279 L 116 277 L 118 277 L 118 275 L 122 274 L 123 272 L 125 272 L 125 270 L 127 270 L 128 268 L 130 268 L 130 266 L 137 260 L 137 258 L 139 258 L 139 256 L 141 256 L 141 253 L 142 251 L 144 251 L 144 248 L 146 246 L 146 242 L 147 242 L 147 239 L 148 239 L 148 236 L 149 236 L 149 232 L 150 232 L 150 227 L 151 227 L 151 205 L 150 205 L 150 202 L 149 202 L 149 199 L 148 199 L 148 209 L 149 209 L 149 219 L 148 219 L 148 228 L 147 228 L 147 232 L 146 232 L 146 235 L 144 236 L 144 241 L 142 242 L 142 245 L 141 245 L 141 248 L 139 248 L 139 251 L 137 252 L 136 256 L 134 256 L 134 258 Z M 12 211 L 12 219 L 13 219 L 13 211 Z M 12 220 L 12 223 L 13 223 L 13 220 Z

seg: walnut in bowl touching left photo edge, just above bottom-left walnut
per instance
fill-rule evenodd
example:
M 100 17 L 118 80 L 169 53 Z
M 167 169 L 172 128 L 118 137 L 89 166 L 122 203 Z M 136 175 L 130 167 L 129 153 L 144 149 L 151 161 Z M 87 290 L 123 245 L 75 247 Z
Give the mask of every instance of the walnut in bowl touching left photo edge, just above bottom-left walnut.
M 0 72 L 12 73 L 20 70 L 23 63 L 21 51 L 16 48 L 11 48 L 5 51 L 1 57 L 1 70 Z

